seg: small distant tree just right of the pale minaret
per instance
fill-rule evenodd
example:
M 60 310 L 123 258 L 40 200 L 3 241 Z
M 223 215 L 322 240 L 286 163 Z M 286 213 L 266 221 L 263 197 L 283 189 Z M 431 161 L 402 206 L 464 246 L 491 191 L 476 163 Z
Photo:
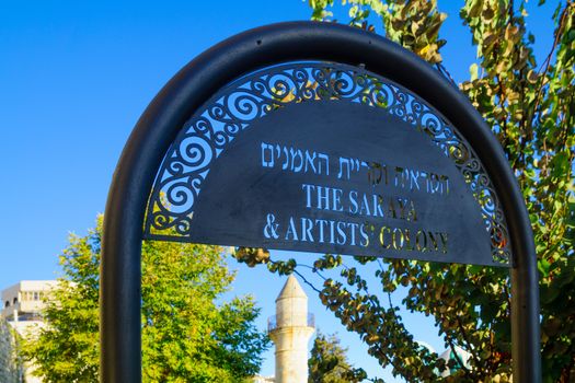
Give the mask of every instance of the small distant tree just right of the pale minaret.
M 318 330 L 308 360 L 309 383 L 354 383 L 366 375 L 361 370 L 354 370 L 346 356 L 347 349 L 340 345 L 335 335 L 326 336 Z

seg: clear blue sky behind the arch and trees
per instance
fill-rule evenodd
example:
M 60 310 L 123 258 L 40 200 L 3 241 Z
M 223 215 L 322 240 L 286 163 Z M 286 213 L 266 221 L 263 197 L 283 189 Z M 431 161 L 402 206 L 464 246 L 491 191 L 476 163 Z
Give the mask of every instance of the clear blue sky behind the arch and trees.
M 532 2 L 528 27 L 541 62 L 556 1 L 542 8 Z M 475 57 L 458 18 L 461 4 L 439 1 L 449 15 L 441 32 L 445 63 L 456 80 L 468 77 Z M 300 0 L 0 1 L 0 289 L 57 276 L 68 233 L 84 234 L 103 212 L 134 124 L 180 68 L 235 33 L 309 14 Z M 239 268 L 234 292 L 256 297 L 262 327 L 281 283 L 265 270 Z M 389 378 L 308 294 L 319 327 L 340 333 L 352 362 Z M 429 320 L 404 317 L 417 339 L 444 349 Z M 273 352 L 267 357 L 263 373 L 273 374 Z

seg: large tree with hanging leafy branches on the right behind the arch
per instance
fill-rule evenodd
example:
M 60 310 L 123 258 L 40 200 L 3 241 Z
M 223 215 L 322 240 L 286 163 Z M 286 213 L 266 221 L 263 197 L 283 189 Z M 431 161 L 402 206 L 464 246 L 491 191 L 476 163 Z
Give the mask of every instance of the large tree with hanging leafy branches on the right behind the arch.
M 540 4 L 544 0 L 540 1 Z M 333 0 L 309 0 L 312 19 L 330 20 Z M 439 38 L 447 15 L 435 0 L 342 0 L 352 25 L 384 35 L 450 78 Z M 559 1 L 552 48 L 537 63 L 525 2 L 465 0 L 460 18 L 476 46 L 470 79 L 459 84 L 499 139 L 527 204 L 537 245 L 541 288 L 541 329 L 545 382 L 575 381 L 575 2 Z M 295 259 L 256 259 L 273 272 L 302 272 Z M 260 257 L 261 258 L 261 257 Z M 307 268 L 302 268 L 304 266 Z M 406 381 L 505 382 L 510 380 L 510 289 L 504 268 L 403 259 L 342 258 L 325 255 L 312 272 L 322 303 L 356 332 L 382 367 Z M 373 271 L 375 270 L 375 271 Z M 375 272 L 380 287 L 369 287 Z M 340 274 L 340 276 L 337 276 Z M 403 288 L 400 288 L 403 287 Z M 371 288 L 371 290 L 370 290 Z M 381 293 L 382 292 L 382 293 Z M 393 293 L 393 295 L 392 295 Z M 446 347 L 461 347 L 469 368 L 422 348 L 405 328 L 393 302 L 435 318 Z M 459 367 L 459 368 L 458 368 Z M 440 374 L 451 370 L 450 376 Z

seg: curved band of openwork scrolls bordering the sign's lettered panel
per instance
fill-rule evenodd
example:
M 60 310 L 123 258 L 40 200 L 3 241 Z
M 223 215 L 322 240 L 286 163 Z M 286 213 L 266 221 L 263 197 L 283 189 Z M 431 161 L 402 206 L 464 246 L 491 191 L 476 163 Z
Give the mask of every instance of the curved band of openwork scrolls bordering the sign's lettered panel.
M 493 263 L 509 264 L 507 225 L 495 189 L 458 130 L 406 89 L 364 68 L 331 62 L 291 62 L 258 70 L 230 83 L 199 108 L 163 160 L 148 205 L 145 237 L 189 241 L 203 186 L 229 146 L 275 111 L 320 102 L 345 102 L 383 111 L 433 142 L 455 164 L 476 201 L 491 240 Z M 288 151 L 277 148 L 284 149 Z M 369 173 L 378 164 L 367 160 L 357 162 L 357 166 Z M 233 193 L 233 186 L 229 193 Z

